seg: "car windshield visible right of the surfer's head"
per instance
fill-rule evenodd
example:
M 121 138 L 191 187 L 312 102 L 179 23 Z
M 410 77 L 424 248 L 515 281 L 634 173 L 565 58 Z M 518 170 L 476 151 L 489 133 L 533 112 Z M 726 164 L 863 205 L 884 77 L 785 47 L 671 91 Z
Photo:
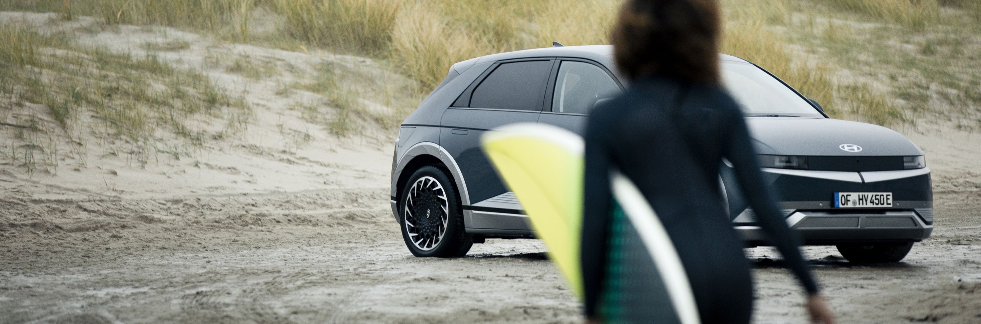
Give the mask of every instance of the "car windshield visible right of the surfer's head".
M 783 82 L 751 64 L 723 61 L 722 81 L 747 116 L 821 116 Z

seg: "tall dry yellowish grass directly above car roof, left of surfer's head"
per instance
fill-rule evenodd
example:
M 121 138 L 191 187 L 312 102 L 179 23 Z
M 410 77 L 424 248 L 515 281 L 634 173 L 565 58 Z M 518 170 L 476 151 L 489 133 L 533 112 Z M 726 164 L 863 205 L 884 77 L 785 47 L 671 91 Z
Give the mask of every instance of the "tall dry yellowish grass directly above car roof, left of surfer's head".
M 453 63 L 550 46 L 605 44 L 619 1 L 418 1 L 393 30 L 393 65 L 433 88 Z

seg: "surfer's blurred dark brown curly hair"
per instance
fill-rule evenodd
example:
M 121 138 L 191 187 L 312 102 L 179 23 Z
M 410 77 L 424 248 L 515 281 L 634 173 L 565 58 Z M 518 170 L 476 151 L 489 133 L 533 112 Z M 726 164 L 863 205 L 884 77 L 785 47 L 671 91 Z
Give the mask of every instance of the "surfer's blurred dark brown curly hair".
M 719 83 L 715 0 L 627 0 L 613 27 L 613 56 L 631 79 L 661 74 Z

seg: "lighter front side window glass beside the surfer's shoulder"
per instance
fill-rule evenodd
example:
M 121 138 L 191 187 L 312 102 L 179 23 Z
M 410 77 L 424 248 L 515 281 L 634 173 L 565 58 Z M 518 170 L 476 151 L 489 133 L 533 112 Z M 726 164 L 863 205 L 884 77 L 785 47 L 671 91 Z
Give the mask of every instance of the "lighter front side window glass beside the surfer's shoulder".
M 585 62 L 563 61 L 555 80 L 551 111 L 589 114 L 597 101 L 621 92 L 605 70 Z

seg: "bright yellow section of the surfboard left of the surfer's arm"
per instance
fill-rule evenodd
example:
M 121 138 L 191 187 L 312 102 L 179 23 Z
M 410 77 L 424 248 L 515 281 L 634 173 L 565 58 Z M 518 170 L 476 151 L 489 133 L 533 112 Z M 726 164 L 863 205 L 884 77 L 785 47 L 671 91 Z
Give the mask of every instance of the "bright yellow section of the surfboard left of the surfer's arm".
M 534 215 L 529 217 L 532 228 L 548 246 L 549 258 L 576 296 L 583 296 L 583 138 L 557 126 L 529 122 L 498 127 L 481 141 L 501 178 Z

